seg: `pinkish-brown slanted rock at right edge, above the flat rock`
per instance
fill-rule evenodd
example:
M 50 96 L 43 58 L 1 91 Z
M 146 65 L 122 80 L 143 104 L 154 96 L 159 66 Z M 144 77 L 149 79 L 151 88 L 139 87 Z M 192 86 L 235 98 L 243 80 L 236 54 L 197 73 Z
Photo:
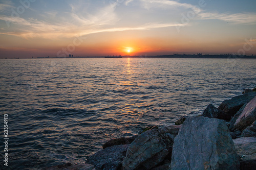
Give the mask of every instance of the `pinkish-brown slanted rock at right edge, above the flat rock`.
M 249 93 L 247 93 L 249 94 Z M 242 114 L 234 123 L 234 129 L 244 130 L 247 126 L 251 126 L 256 120 L 256 97 L 253 98 L 244 108 Z

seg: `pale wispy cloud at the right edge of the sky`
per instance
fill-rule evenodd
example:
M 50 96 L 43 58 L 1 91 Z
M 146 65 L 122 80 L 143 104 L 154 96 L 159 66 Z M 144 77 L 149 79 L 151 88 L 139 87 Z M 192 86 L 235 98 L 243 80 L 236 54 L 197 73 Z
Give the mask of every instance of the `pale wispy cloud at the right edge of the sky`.
M 255 13 L 200 13 L 198 15 L 201 19 L 219 19 L 236 24 L 254 24 L 256 23 L 256 14 Z

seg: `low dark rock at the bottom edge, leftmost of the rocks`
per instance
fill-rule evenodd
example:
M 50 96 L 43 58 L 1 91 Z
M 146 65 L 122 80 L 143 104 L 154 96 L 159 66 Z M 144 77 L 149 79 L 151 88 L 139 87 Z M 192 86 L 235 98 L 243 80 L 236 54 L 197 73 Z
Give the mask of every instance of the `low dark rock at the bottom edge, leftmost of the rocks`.
M 71 163 L 65 163 L 63 165 L 57 165 L 57 166 L 52 166 L 48 167 L 45 170 L 57 170 L 57 169 L 62 169 L 62 170 L 95 170 L 94 166 L 91 164 L 80 164 L 80 165 L 72 165 Z

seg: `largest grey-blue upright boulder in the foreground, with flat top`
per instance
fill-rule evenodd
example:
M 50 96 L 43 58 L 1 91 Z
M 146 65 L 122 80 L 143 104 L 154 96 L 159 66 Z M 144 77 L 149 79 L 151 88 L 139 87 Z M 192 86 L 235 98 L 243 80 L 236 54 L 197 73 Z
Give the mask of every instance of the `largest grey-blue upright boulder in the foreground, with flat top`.
M 169 169 L 239 169 L 239 156 L 225 121 L 187 118 L 174 140 Z

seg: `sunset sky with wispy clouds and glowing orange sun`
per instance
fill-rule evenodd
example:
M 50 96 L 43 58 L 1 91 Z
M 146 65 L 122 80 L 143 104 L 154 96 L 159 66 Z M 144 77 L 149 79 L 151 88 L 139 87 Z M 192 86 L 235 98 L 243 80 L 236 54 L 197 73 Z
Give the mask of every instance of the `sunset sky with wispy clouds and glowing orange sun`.
M 256 55 L 255 0 L 0 0 L 0 58 Z

